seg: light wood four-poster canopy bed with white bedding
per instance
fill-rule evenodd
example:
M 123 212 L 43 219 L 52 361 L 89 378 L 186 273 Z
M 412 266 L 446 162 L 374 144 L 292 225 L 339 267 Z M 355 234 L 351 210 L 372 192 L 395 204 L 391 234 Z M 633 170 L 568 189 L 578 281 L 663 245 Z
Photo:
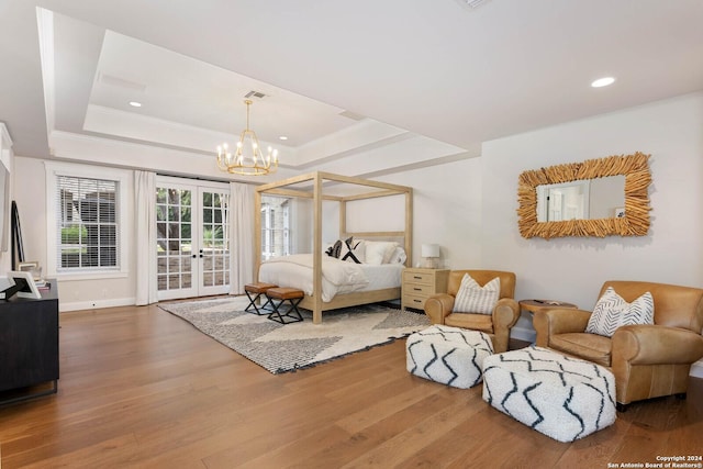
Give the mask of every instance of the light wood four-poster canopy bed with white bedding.
M 323 182 L 360 186 L 369 192 L 353 196 L 323 193 Z M 297 189 L 293 186 L 312 188 Z M 261 263 L 261 198 L 264 196 L 305 198 L 313 202 L 313 247 L 310 255 L 291 255 Z M 347 204 L 354 201 L 404 196 L 404 228 L 392 232 L 348 232 Z M 404 266 L 412 261 L 412 198 L 410 187 L 353 178 L 330 172 L 311 172 L 259 186 L 255 193 L 255 271 L 259 281 L 293 287 L 305 292 L 300 306 L 313 312 L 313 323 L 322 323 L 323 311 L 401 298 Z M 323 246 L 322 202 L 339 203 L 339 239 L 365 239 L 369 264 L 341 260 L 325 254 Z M 364 242 L 355 242 L 360 246 Z M 337 245 L 342 242 L 337 242 Z M 344 244 L 342 244 L 344 246 Z M 372 245 L 372 250 L 370 247 Z M 390 245 L 394 247 L 391 248 Z M 347 245 L 348 246 L 348 245 Z M 333 247 L 331 247 L 332 249 Z M 384 254 L 377 252 L 382 248 Z M 352 250 L 352 249 L 348 249 Z M 348 256 L 347 250 L 347 256 Z M 337 250 L 338 253 L 338 250 Z M 371 256 L 381 256 L 376 260 Z M 366 259 L 365 259 L 366 260 Z M 361 272 L 361 273 L 359 273 Z M 358 281 L 358 278 L 361 281 Z M 286 284 L 289 283 L 289 284 Z

